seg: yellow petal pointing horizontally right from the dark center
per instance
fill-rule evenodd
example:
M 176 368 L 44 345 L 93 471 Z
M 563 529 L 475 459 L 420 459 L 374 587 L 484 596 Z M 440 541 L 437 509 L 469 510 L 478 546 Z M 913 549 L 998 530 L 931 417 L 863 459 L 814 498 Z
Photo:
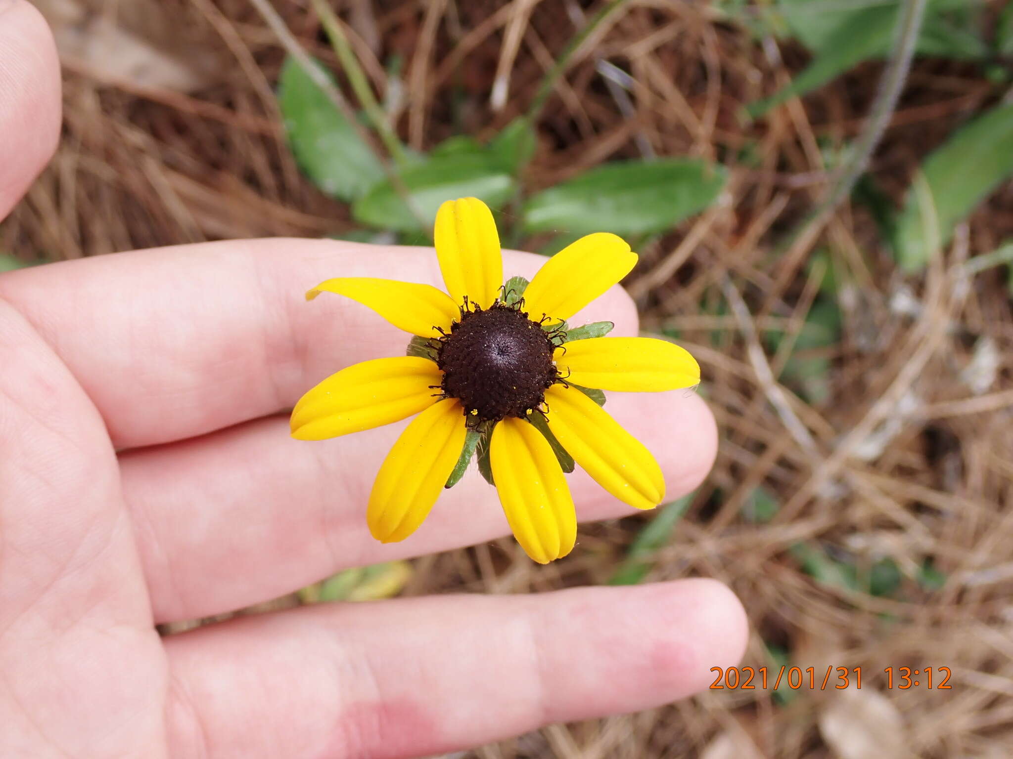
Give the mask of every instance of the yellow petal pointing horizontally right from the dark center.
M 685 348 L 653 337 L 594 337 L 556 348 L 556 369 L 576 385 L 656 393 L 700 384 L 700 364 Z

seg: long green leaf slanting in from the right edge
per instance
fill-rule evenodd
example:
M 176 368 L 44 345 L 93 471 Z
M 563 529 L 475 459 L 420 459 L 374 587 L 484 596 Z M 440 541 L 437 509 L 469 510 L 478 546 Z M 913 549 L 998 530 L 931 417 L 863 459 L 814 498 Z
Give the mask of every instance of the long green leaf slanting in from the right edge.
M 1013 103 L 999 105 L 958 130 L 922 165 L 926 191 L 908 188 L 897 224 L 894 253 L 901 268 L 917 272 L 938 244 L 995 187 L 1013 173 Z M 916 177 L 916 182 L 918 181 Z

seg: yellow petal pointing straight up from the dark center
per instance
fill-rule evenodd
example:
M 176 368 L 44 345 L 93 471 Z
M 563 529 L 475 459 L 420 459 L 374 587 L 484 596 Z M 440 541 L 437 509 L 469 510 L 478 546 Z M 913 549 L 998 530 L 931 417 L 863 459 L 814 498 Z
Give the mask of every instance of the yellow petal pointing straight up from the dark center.
M 488 206 L 477 197 L 448 200 L 437 212 L 433 236 L 454 301 L 461 304 L 467 297 L 483 309 L 491 306 L 503 283 L 503 261 Z

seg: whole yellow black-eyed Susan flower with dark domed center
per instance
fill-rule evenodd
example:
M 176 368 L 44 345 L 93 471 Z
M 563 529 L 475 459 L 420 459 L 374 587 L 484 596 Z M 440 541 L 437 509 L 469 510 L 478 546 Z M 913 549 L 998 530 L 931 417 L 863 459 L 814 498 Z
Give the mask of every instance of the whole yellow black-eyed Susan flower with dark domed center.
M 575 461 L 603 488 L 640 509 L 665 497 L 650 452 L 600 404 L 601 391 L 695 386 L 700 367 L 664 340 L 604 337 L 600 322 L 566 320 L 618 282 L 637 256 L 597 233 L 552 256 L 528 283 L 503 283 L 495 223 L 474 197 L 437 215 L 436 250 L 447 292 L 428 284 L 338 277 L 307 293 L 336 292 L 414 335 L 408 355 L 355 364 L 324 380 L 292 412 L 292 435 L 320 440 L 409 416 L 380 467 L 367 521 L 383 542 L 403 540 L 473 454 L 494 484 L 528 556 L 566 556 L 576 514 L 564 470 Z M 449 294 L 448 294 L 449 293 Z

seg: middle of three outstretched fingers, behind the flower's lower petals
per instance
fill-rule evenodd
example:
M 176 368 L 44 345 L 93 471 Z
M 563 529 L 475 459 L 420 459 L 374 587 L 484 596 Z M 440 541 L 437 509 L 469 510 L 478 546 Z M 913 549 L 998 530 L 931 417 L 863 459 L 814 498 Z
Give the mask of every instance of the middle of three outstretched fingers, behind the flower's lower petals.
M 697 396 L 612 394 L 607 408 L 654 452 L 670 498 L 706 476 L 716 433 Z M 405 424 L 308 443 L 290 439 L 288 420 L 275 417 L 124 453 L 124 493 L 156 620 L 229 611 L 348 567 L 506 534 L 494 490 L 470 471 L 417 532 L 396 543 L 373 539 L 366 502 Z M 633 512 L 579 470 L 569 485 L 581 521 Z

